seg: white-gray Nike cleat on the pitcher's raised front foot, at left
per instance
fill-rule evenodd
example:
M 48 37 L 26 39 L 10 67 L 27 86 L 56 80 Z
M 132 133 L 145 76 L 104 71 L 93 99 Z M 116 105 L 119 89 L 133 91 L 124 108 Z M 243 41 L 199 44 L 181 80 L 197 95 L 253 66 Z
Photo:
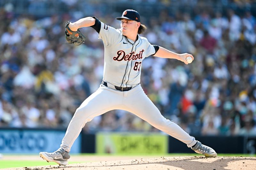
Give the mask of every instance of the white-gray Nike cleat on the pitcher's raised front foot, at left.
M 69 152 L 64 151 L 62 148 L 59 148 L 57 151 L 52 153 L 40 152 L 39 155 L 47 162 L 56 162 L 59 165 L 66 166 L 68 164 L 68 159 L 70 158 L 68 153 Z

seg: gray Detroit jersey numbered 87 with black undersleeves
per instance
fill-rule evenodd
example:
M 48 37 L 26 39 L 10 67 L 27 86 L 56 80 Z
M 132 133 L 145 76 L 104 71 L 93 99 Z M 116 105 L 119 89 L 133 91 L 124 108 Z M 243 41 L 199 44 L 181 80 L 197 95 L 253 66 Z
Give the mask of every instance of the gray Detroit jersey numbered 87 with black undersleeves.
M 134 42 L 124 36 L 121 29 L 107 26 L 95 19 L 92 27 L 98 31 L 105 48 L 103 80 L 118 87 L 139 84 L 142 61 L 149 55 L 154 55 L 157 47 L 139 35 Z

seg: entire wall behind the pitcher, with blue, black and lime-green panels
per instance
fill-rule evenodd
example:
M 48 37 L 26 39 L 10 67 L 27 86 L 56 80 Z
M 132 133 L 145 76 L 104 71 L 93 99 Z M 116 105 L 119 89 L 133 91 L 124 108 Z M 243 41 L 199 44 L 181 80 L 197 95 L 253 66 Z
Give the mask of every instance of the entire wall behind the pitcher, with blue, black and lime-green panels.
M 63 129 L 0 129 L 0 153 L 53 152 L 60 147 Z M 195 136 L 217 153 L 256 153 L 256 137 Z M 80 134 L 72 153 L 166 154 L 194 153 L 186 144 L 164 133 Z

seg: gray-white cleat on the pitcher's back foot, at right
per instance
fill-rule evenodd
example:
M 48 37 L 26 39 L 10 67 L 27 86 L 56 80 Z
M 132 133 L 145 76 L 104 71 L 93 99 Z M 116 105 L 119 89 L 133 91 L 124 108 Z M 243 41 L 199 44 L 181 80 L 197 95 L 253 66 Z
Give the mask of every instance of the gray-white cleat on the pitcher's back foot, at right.
M 216 157 L 217 153 L 209 146 L 205 146 L 201 144 L 201 142 L 197 141 L 194 147 L 191 147 L 193 151 L 196 153 L 203 154 L 205 157 Z

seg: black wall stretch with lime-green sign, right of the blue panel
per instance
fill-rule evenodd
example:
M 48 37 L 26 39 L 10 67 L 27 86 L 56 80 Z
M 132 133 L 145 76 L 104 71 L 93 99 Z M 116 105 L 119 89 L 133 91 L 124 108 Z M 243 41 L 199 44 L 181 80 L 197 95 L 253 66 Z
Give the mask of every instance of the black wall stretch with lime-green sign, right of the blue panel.
M 256 137 L 194 137 L 203 144 L 214 148 L 217 153 L 256 153 Z M 91 143 L 87 139 L 87 134 L 83 134 L 83 138 L 84 142 L 81 144 L 83 153 L 195 153 L 186 144 L 163 133 L 158 133 L 158 135 L 157 133 L 98 133 L 93 140 L 93 135 L 88 136 L 91 138 Z M 157 140 L 157 138 L 159 139 Z M 90 150 L 88 150 L 88 145 L 91 146 Z M 167 148 L 167 151 L 164 151 L 163 148 Z

